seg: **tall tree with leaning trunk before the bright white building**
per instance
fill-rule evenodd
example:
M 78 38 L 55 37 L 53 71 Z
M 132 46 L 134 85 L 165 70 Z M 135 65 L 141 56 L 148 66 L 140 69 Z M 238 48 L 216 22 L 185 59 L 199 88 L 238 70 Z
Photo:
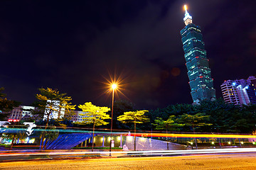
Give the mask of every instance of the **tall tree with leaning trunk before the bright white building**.
M 46 128 L 42 135 L 42 140 L 44 140 L 50 115 L 55 113 L 58 114 L 58 118 L 62 118 L 63 115 L 61 115 L 61 112 L 64 112 L 65 109 L 68 111 L 75 110 L 75 106 L 72 106 L 71 103 L 69 103 L 72 100 L 70 96 L 66 96 L 67 94 L 60 94 L 57 89 L 40 88 L 38 90 L 40 91 L 40 94 L 36 94 L 38 101 L 36 101 L 37 109 L 35 109 L 35 111 L 37 114 L 43 115 L 43 118 L 46 119 Z M 41 149 L 43 149 L 43 145 L 41 146 Z

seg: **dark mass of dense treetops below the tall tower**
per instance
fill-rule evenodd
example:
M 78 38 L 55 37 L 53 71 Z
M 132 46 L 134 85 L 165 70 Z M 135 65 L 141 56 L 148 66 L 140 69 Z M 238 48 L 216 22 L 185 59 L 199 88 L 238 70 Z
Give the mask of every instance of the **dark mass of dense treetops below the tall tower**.
M 194 115 L 200 118 L 199 114 L 207 115 L 206 119 L 196 120 L 200 123 L 206 123 L 206 125 L 198 124 L 196 126 L 196 128 L 200 127 L 202 132 L 251 133 L 255 130 L 256 105 L 238 106 L 233 103 L 225 103 L 222 98 L 218 98 L 215 101 L 201 101 L 200 105 L 196 106 L 176 104 L 166 108 L 157 108 L 147 113 L 151 123 L 155 123 L 154 120 L 159 118 L 166 121 L 171 115 L 175 115 L 180 122 L 181 119 L 186 120 L 186 126 L 181 127 L 183 131 L 189 131 L 186 127 L 189 126 L 188 124 L 192 124 L 188 122 L 191 121 Z M 149 125 L 146 128 L 149 129 Z

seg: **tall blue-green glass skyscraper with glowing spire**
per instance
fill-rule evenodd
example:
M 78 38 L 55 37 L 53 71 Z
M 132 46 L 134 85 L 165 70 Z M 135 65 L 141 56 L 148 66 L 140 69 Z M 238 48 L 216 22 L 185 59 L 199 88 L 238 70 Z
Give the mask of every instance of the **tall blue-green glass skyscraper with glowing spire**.
M 184 8 L 186 13 L 183 21 L 186 26 L 181 30 L 181 40 L 193 103 L 198 104 L 203 100 L 213 101 L 216 95 L 213 89 L 213 79 L 210 77 L 201 28 L 192 23 L 192 16 L 189 15 L 186 6 Z

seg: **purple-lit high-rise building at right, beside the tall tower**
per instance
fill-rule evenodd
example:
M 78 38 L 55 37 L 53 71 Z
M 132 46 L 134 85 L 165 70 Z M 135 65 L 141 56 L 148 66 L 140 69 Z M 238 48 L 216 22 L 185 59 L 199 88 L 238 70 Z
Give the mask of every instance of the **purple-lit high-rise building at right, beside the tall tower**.
M 256 78 L 227 80 L 221 84 L 220 88 L 226 103 L 235 105 L 256 104 Z

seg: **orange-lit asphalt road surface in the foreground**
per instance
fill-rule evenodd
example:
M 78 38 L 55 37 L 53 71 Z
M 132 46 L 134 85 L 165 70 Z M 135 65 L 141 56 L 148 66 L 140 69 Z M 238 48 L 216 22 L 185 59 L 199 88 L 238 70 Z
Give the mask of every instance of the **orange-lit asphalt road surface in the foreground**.
M 2 162 L 0 169 L 256 169 L 256 154 L 210 154 L 178 157 L 120 157 L 101 159 Z

